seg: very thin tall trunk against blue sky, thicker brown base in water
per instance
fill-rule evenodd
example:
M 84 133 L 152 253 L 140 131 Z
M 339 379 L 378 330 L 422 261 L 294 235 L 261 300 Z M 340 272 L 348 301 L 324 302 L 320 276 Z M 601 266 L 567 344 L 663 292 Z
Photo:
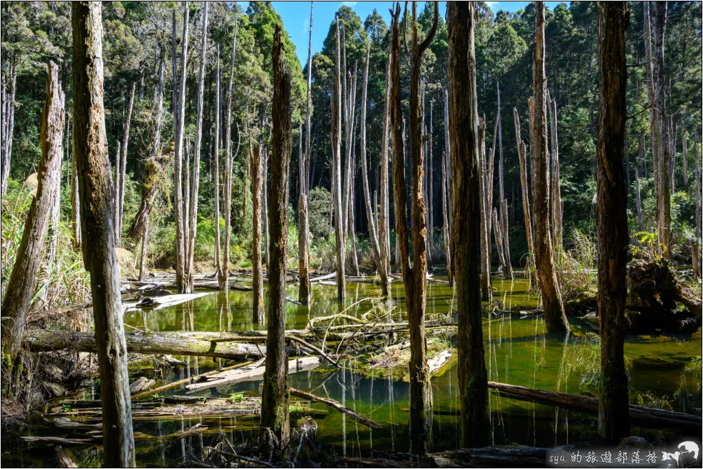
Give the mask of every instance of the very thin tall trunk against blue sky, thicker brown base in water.
M 305 113 L 305 153 L 300 167 L 301 190 L 298 201 L 298 301 L 304 305 L 310 303 L 310 220 L 308 199 L 310 194 L 310 113 L 312 111 L 312 12 L 313 4 L 311 2 L 310 35 L 308 39 L 307 112 Z

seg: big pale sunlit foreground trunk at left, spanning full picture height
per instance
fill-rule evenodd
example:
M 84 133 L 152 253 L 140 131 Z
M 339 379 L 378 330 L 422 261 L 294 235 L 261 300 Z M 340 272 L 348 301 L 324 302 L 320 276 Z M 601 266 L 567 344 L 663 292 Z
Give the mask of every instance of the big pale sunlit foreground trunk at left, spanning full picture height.
M 134 434 L 122 326 L 120 267 L 115 256 L 110 160 L 103 107 L 100 2 L 72 4 L 73 149 L 81 201 L 83 262 L 91 276 L 103 408 L 103 464 L 134 467 Z

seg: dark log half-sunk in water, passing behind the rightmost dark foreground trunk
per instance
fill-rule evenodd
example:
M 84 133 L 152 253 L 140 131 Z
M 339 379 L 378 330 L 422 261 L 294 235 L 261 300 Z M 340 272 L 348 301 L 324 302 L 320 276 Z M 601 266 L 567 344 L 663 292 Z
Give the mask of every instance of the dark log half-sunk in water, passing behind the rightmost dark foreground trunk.
M 595 397 L 524 388 L 523 386 L 495 383 L 494 381 L 489 381 L 488 387 L 500 391 L 503 397 L 517 396 L 518 398 L 528 398 L 547 404 L 557 404 L 583 411 L 598 412 L 598 399 Z M 630 406 L 630 421 L 639 425 L 645 425 L 648 428 L 695 431 L 697 432 L 696 435 L 703 429 L 702 419 L 698 416 L 643 406 Z

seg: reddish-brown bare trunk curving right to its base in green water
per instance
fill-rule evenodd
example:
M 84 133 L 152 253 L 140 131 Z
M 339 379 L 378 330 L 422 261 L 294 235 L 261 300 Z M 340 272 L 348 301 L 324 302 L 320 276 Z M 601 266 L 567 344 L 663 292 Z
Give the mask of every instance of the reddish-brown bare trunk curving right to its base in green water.
M 550 332 L 568 331 L 562 295 L 554 268 L 552 237 L 549 230 L 549 191 L 547 182 L 547 106 L 546 74 L 544 70 L 544 2 L 535 2 L 534 47 L 534 143 L 532 150 L 532 206 L 534 208 L 534 253 L 542 290 L 544 317 Z

